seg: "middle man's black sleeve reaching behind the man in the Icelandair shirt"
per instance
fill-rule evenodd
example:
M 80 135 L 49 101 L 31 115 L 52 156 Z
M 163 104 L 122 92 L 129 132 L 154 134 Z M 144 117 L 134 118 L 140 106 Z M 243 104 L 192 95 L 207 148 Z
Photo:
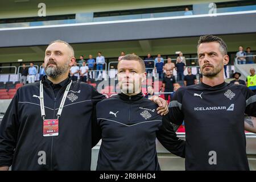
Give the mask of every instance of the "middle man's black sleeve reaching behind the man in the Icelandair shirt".
M 174 127 L 170 122 L 170 116 L 163 117 L 162 126 L 156 132 L 159 142 L 172 154 L 185 158 L 185 141 L 177 137 Z

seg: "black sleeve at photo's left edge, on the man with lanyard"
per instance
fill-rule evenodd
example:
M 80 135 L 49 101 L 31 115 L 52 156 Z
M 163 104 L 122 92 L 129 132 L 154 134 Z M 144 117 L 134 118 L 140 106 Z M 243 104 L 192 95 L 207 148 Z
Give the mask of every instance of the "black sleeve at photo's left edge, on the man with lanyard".
M 11 101 L 0 125 L 0 167 L 11 166 L 19 131 L 18 91 Z

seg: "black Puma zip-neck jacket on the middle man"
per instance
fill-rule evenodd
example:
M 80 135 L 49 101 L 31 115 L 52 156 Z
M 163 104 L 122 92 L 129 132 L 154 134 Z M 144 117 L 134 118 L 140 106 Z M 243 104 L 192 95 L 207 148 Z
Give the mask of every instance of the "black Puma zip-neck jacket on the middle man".
M 98 102 L 102 143 L 97 170 L 160 170 L 156 137 L 173 154 L 185 156 L 185 142 L 176 137 L 170 119 L 157 114 L 157 107 L 142 93 Z

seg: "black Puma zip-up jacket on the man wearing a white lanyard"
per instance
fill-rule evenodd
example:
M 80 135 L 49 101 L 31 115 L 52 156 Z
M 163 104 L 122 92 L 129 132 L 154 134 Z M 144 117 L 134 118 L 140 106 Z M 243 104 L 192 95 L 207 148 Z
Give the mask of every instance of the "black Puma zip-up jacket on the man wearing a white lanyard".
M 42 81 L 46 119 L 56 119 L 71 79 L 59 90 L 56 98 L 46 76 Z M 92 124 L 96 119 L 94 109 L 96 103 L 105 97 L 84 82 L 72 82 L 56 137 L 43 137 L 38 97 L 39 82 L 35 82 L 19 88 L 11 101 L 0 125 L 0 167 L 12 166 L 13 170 L 90 170 L 91 148 L 99 140 L 96 136 L 100 136 Z M 41 164 L 44 152 L 46 164 Z

